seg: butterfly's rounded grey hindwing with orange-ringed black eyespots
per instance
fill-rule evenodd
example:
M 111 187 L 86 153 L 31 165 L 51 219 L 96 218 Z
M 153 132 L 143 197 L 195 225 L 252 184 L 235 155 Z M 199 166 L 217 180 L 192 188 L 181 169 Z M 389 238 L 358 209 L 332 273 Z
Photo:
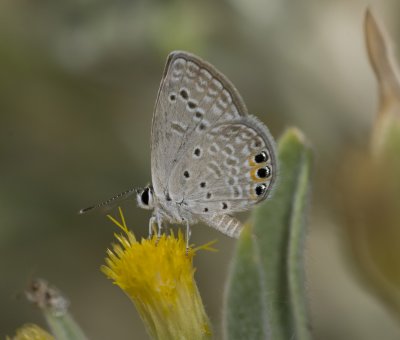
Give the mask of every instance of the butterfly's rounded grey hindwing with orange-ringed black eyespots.
M 196 215 L 247 210 L 269 195 L 275 158 L 273 139 L 257 118 L 218 123 L 190 144 L 174 168 L 171 196 Z

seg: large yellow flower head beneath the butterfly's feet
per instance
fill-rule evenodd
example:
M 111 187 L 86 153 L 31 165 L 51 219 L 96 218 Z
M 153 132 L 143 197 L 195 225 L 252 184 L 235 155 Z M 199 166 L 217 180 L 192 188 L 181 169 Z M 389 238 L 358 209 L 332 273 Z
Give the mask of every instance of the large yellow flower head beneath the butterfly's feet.
M 181 231 L 138 242 L 121 223 L 108 216 L 123 234 L 107 251 L 102 271 L 132 300 L 150 335 L 156 339 L 209 339 L 210 323 L 196 282 L 193 257 L 211 243 L 186 249 Z

